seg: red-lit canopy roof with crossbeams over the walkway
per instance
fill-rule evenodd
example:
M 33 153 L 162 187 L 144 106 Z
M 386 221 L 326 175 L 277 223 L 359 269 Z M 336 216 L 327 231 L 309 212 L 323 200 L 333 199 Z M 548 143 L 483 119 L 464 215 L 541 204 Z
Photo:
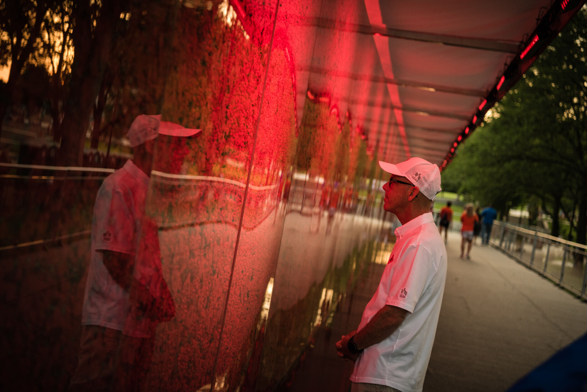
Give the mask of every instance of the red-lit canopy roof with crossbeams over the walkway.
M 381 159 L 418 156 L 442 165 L 457 137 L 482 120 L 473 124 L 474 116 L 507 92 L 582 3 L 282 2 L 276 35 L 291 45 L 298 121 L 308 92 L 328 96 Z

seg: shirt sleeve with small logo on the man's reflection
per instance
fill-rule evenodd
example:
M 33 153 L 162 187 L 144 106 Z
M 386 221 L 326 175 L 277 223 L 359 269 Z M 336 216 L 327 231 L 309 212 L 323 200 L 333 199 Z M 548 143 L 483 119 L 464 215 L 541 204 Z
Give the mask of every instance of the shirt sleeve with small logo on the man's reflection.
M 113 189 L 100 190 L 93 219 L 95 250 L 134 254 L 136 225 L 129 202 L 122 192 Z

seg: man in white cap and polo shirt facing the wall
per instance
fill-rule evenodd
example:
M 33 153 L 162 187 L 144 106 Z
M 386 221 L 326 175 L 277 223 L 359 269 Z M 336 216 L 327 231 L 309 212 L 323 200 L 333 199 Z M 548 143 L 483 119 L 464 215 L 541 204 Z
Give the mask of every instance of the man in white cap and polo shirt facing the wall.
M 339 357 L 355 361 L 351 391 L 419 392 L 446 280 L 446 248 L 430 212 L 440 192 L 440 170 L 422 158 L 379 165 L 391 174 L 383 185 L 383 208 L 402 226 L 359 328 L 336 349 Z

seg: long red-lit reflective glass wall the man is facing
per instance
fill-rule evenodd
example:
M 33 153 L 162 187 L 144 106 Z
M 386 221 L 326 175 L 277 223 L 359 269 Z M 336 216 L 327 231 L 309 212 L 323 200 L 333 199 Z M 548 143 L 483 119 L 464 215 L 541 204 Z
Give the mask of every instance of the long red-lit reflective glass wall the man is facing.
M 132 45 L 127 55 L 116 52 L 120 94 L 108 103 L 124 113 L 126 129 L 139 114 L 160 113 L 161 121 L 200 131 L 159 134 L 116 167 L 132 158 L 149 185 L 108 383 L 116 390 L 273 390 L 316 330 L 332 322 L 386 225 L 377 157 L 348 109 L 354 82 L 309 72 L 352 59 L 342 42 L 353 35 L 322 42 L 323 28 L 301 19 L 322 12 L 314 2 L 147 3 L 146 23 L 131 19 L 136 25 L 121 38 Z M 295 56 L 309 59 L 307 69 Z M 10 243 L 52 241 L 2 254 L 11 261 L 0 267 L 11 320 L 3 326 L 14 338 L 5 352 L 16 358 L 2 380 L 14 390 L 65 390 L 87 370 L 80 320 L 93 273 L 92 222 L 108 213 L 93 205 L 113 170 L 75 171 L 58 185 L 18 182 L 23 168 L 2 170 L 10 177 L 2 177 L 3 200 L 15 208 L 1 223 L 20 230 Z M 63 177 L 55 168 L 35 170 L 27 174 Z M 75 239 L 56 241 L 72 233 Z M 41 291 L 35 303 L 32 293 Z M 126 334 L 138 325 L 149 331 Z M 19 369 L 35 374 L 23 380 Z

